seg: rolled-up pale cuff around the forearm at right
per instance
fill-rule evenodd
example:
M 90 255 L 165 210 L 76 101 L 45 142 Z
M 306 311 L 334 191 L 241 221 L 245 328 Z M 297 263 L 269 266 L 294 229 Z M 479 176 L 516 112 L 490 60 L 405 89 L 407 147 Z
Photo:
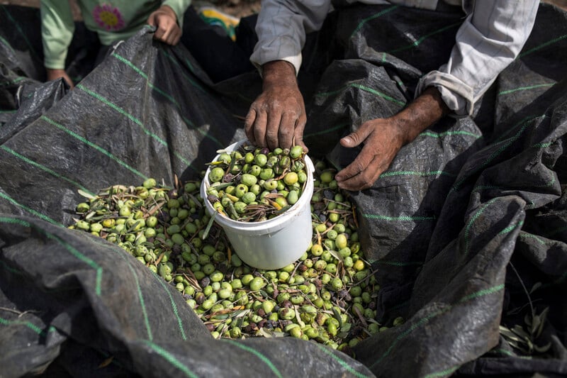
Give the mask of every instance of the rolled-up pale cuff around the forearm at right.
M 473 89 L 461 80 L 445 72 L 432 71 L 417 83 L 415 96 L 419 96 L 427 87 L 436 87 L 441 98 L 454 112 L 455 116 L 466 117 L 473 113 Z

